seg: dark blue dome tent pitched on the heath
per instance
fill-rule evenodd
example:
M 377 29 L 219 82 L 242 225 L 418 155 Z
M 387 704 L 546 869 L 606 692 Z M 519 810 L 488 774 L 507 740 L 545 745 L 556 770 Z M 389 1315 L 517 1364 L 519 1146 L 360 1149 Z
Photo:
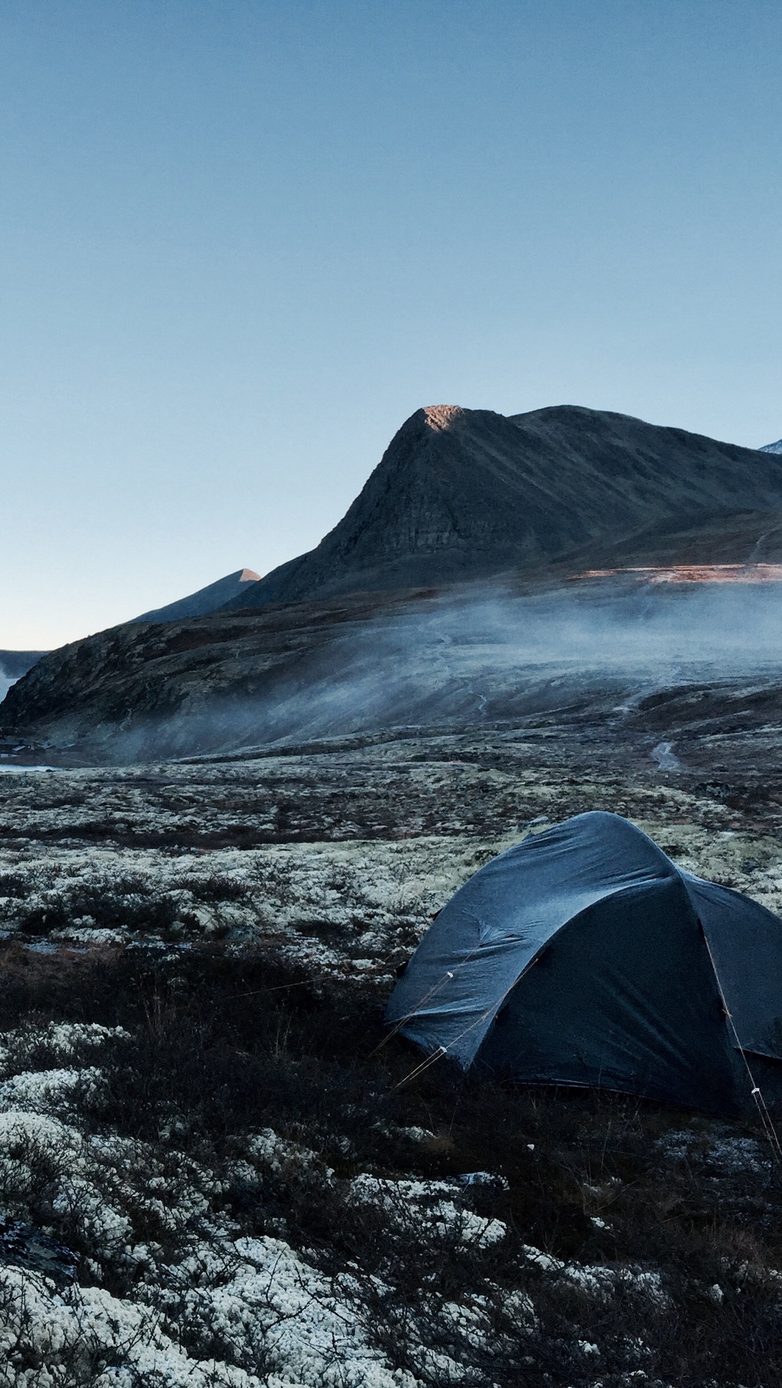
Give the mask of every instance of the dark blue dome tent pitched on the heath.
M 463 1069 L 736 1115 L 747 1060 L 782 1062 L 782 920 L 618 815 L 577 815 L 464 883 L 387 1019 Z

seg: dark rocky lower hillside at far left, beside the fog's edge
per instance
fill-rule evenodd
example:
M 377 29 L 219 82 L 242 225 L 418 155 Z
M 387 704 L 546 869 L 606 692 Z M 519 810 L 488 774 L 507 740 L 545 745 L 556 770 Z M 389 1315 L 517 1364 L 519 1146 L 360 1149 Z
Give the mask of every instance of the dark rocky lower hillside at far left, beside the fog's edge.
M 24 729 L 46 743 L 76 743 L 76 759 L 101 761 L 255 741 L 263 709 L 284 702 L 290 682 L 306 688 L 320 652 L 363 629 L 377 607 L 348 598 L 128 622 L 39 662 L 8 690 L 0 729 L 15 741 Z

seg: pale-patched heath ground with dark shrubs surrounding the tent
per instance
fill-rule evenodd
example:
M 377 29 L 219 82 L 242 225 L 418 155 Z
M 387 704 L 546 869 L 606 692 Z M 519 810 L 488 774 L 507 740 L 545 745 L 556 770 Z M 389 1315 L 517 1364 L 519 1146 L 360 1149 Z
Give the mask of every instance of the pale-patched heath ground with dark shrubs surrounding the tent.
M 385 1038 L 431 915 L 568 813 L 782 906 L 775 822 L 549 731 L 1 779 L 0 1388 L 782 1381 L 751 1127 Z

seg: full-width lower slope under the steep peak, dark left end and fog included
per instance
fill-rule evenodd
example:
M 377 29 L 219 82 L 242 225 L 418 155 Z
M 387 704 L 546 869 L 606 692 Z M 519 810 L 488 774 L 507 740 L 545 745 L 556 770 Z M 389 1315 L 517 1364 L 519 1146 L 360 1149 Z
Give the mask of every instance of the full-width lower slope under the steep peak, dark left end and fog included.
M 641 698 L 656 709 L 649 755 L 682 722 L 775 720 L 781 648 L 775 582 L 349 594 L 114 627 L 40 661 L 0 729 L 10 762 L 128 763 L 563 709 L 618 729 Z

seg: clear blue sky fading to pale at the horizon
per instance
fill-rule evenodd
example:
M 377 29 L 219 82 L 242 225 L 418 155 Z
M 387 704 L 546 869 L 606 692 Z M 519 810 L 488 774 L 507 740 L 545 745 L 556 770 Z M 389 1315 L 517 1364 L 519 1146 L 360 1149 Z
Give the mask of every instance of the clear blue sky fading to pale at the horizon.
M 778 0 L 6 0 L 0 647 L 313 545 L 422 404 L 782 434 Z

